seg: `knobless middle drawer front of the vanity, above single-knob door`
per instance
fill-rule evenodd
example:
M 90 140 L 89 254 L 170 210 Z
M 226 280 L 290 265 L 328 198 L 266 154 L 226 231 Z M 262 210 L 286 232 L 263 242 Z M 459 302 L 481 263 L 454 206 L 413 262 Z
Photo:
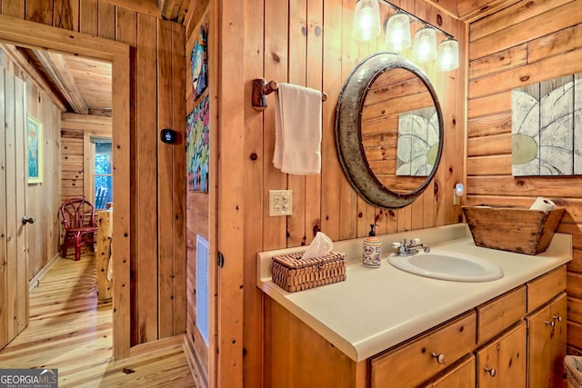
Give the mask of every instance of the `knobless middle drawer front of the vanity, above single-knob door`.
M 477 343 L 486 343 L 526 315 L 526 286 L 477 307 Z

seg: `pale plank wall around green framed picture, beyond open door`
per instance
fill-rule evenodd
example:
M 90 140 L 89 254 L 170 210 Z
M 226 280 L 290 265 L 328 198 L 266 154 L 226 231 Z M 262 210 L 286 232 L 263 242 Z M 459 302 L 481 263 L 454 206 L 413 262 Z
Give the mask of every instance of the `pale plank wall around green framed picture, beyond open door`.
M 61 111 L 48 95 L 14 62 L 5 57 L 7 71 L 25 81 L 25 112 L 32 114 L 43 124 L 43 183 L 26 184 L 22 208 L 26 215 L 35 217 L 35 224 L 27 228 L 28 257 L 26 280 L 32 280 L 40 270 L 58 254 L 60 204 L 60 116 Z M 23 107 L 24 108 L 24 107 Z M 15 192 L 15 187 L 6 187 Z M 23 216 L 25 214 L 17 214 Z

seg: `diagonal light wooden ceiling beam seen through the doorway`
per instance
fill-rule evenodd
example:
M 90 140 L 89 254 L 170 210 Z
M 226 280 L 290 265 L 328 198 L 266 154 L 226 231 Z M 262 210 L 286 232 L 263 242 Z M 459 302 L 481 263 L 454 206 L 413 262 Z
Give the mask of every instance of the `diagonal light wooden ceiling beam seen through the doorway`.
M 63 57 L 59 54 L 34 50 L 38 60 L 45 66 L 46 72 L 51 75 L 55 84 L 58 85 L 66 101 L 71 105 L 75 113 L 88 114 L 89 107 L 85 103 L 85 98 L 79 92 L 75 79 L 70 75 Z

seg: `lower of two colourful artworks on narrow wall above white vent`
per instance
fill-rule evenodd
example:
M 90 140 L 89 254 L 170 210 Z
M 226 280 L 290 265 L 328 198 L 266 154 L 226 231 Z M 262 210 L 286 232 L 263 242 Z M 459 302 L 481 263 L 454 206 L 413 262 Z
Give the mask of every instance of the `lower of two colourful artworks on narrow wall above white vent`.
M 209 119 L 206 95 L 186 120 L 186 174 L 191 192 L 208 192 Z

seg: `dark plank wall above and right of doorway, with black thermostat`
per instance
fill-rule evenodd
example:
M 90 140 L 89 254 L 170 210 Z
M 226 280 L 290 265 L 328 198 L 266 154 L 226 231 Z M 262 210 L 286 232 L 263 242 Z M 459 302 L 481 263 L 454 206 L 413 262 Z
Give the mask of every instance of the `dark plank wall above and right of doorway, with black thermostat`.
M 2 15 L 98 35 L 131 46 L 130 181 L 134 194 L 130 234 L 131 343 L 134 345 L 186 332 L 186 198 L 185 180 L 179 178 L 185 156 L 182 152 L 168 152 L 164 148 L 166 144 L 158 146 L 161 129 L 158 125 L 169 125 L 184 133 L 185 92 L 174 84 L 175 75 L 171 71 L 157 66 L 164 57 L 165 64 L 175 65 L 177 74 L 183 74 L 184 27 L 150 15 L 149 11 L 142 13 L 135 9 L 141 7 L 136 4 L 134 9 L 128 9 L 113 1 L 101 0 L 0 3 Z M 168 31 L 171 31 L 170 41 Z M 166 112 L 169 104 L 171 114 Z M 179 147 L 176 145 L 176 150 Z M 159 159 L 166 160 L 169 154 L 174 162 L 160 164 Z M 166 185 L 166 182 L 172 184 Z M 160 225 L 170 228 L 158 234 Z

